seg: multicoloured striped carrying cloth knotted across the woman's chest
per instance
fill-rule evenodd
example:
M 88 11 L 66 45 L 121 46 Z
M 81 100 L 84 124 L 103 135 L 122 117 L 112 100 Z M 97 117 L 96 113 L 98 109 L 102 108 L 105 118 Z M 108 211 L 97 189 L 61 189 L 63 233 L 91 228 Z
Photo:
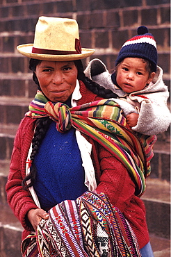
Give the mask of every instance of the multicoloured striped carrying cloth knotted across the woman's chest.
M 133 132 L 113 99 L 92 101 L 69 108 L 64 103 L 51 103 L 38 91 L 26 116 L 49 116 L 61 133 L 71 126 L 99 142 L 127 167 L 136 185 L 136 195 L 145 192 L 145 178 L 150 173 L 150 160 L 156 136 Z

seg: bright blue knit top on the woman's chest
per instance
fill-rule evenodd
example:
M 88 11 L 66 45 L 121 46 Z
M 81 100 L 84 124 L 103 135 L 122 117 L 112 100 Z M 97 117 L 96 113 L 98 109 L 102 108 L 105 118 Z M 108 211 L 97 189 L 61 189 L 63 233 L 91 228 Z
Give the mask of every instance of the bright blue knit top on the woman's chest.
M 35 165 L 38 172 L 33 188 L 44 210 L 60 201 L 74 200 L 88 190 L 74 128 L 60 133 L 56 123 L 51 122 L 35 156 Z

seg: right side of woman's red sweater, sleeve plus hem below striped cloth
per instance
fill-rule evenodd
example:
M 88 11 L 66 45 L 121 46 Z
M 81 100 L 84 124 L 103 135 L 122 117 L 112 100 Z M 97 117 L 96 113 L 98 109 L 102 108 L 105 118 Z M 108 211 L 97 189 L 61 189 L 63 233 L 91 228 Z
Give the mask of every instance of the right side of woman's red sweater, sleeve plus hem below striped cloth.
M 113 206 L 119 208 L 136 233 L 140 248 L 149 242 L 145 218 L 145 205 L 136 197 L 135 184 L 124 165 L 104 147 L 99 145 L 101 176 L 97 193 L 104 192 Z

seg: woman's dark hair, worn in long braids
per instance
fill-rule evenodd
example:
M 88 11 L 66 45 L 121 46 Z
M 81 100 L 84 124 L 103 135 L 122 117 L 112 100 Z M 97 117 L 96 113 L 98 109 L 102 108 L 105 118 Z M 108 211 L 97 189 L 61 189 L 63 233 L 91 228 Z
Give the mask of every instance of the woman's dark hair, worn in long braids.
M 31 69 L 31 71 L 33 72 L 33 81 L 35 82 L 36 85 L 38 85 L 39 90 L 41 90 L 41 88 L 38 83 L 38 78 L 35 75 L 35 69 L 36 69 L 36 66 L 38 64 L 40 64 L 41 62 L 42 62 L 42 60 L 31 59 L 30 63 L 29 63 L 29 69 Z M 86 85 L 86 87 L 90 91 L 97 94 L 99 97 L 103 97 L 106 99 L 117 96 L 111 90 L 106 90 L 105 88 L 101 87 L 99 84 L 90 80 L 90 78 L 86 77 L 86 75 L 83 72 L 83 64 L 82 64 L 81 60 L 74 60 L 74 64 L 76 65 L 76 68 L 78 70 L 77 78 L 80 81 L 83 81 L 83 83 Z M 39 118 L 35 122 L 35 133 L 34 133 L 33 140 L 32 140 L 32 152 L 31 152 L 31 156 L 30 156 L 30 159 L 32 162 L 31 172 L 22 181 L 22 185 L 25 189 L 31 187 L 35 181 L 36 167 L 34 164 L 34 158 L 35 158 L 35 155 L 38 153 L 40 144 L 41 144 L 42 140 L 44 139 L 44 136 L 46 135 L 47 129 L 49 128 L 50 124 L 51 124 L 51 119 L 49 119 L 49 117 Z M 31 180 L 31 182 L 27 183 L 27 181 L 29 181 L 29 179 Z

